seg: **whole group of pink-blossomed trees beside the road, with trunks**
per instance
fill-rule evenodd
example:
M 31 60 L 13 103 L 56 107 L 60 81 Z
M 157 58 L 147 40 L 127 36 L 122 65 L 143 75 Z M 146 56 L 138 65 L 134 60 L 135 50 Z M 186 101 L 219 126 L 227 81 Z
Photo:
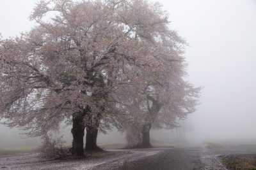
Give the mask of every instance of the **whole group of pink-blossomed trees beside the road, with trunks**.
M 0 118 L 28 136 L 72 125 L 72 154 L 97 150 L 98 131 L 124 131 L 150 147 L 149 132 L 195 111 L 184 81 L 186 42 L 168 15 L 145 0 L 40 1 L 36 26 L 0 39 Z

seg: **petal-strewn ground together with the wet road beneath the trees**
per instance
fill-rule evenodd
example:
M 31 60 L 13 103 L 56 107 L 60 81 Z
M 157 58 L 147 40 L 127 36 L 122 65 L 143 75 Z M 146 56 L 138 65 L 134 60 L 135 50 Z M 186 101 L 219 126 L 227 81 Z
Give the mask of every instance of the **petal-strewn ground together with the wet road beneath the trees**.
M 247 146 L 175 146 L 132 150 L 108 150 L 87 154 L 84 159 L 43 159 L 40 153 L 0 157 L 0 169 L 226 169 L 221 155 L 256 154 Z M 223 157 L 223 156 L 221 156 Z

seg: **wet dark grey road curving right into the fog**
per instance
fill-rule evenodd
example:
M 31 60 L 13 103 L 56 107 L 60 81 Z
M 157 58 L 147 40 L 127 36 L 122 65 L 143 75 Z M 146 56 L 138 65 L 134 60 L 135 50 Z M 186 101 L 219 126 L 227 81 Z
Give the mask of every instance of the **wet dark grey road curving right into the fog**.
M 220 163 L 218 155 L 256 154 L 256 148 L 248 146 L 208 149 L 202 147 L 184 147 L 164 149 L 152 157 L 124 162 L 120 170 L 227 170 Z

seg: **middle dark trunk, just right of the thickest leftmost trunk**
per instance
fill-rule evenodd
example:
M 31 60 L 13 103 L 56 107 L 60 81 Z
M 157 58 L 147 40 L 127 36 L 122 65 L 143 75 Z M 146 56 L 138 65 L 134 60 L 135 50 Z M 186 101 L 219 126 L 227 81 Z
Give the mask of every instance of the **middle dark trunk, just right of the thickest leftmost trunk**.
M 85 150 L 88 151 L 100 151 L 102 150 L 97 146 L 98 129 L 86 128 L 86 143 Z

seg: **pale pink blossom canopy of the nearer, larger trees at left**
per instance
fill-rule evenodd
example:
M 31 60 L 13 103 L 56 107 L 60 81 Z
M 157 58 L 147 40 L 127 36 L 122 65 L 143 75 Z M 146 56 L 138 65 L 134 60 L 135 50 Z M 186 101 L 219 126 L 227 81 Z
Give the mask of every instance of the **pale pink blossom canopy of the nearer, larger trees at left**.
M 101 121 L 108 129 L 116 105 L 127 93 L 143 96 L 132 91 L 164 71 L 166 60 L 178 60 L 170 69 L 180 76 L 184 41 L 159 4 L 40 1 L 31 20 L 38 23 L 31 31 L 0 41 L 0 118 L 31 136 L 78 115 L 84 126 Z

